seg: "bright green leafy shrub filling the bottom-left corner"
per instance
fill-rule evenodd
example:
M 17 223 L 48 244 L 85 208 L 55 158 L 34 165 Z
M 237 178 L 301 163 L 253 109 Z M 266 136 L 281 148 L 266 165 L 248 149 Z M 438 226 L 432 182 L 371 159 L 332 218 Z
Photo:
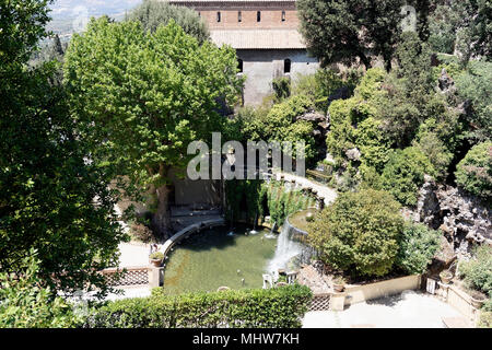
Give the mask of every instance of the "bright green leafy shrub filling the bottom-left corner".
M 0 328 L 68 328 L 80 317 L 72 306 L 42 285 L 39 261 L 30 255 L 16 273 L 0 272 Z

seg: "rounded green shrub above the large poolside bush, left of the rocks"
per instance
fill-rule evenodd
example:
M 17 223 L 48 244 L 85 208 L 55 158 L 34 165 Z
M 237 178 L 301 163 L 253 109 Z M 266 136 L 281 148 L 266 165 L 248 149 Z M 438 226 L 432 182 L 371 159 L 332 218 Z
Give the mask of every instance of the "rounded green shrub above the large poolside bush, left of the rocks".
M 419 149 L 395 150 L 383 170 L 383 188 L 403 206 L 415 206 L 425 174 L 434 175 L 434 167 Z

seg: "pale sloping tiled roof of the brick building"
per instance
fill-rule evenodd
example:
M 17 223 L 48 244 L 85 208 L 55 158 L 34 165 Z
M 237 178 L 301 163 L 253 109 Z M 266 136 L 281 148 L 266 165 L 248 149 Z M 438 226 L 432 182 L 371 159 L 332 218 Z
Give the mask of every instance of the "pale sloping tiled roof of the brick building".
M 302 49 L 306 48 L 296 30 L 213 30 L 210 36 L 216 45 L 235 49 Z

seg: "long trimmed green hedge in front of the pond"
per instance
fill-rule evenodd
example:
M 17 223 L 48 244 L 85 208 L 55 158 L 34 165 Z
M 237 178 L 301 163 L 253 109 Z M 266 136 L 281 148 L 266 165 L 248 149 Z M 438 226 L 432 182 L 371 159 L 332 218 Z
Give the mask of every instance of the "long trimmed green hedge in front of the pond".
M 304 285 L 268 290 L 223 291 L 152 296 L 109 302 L 94 310 L 86 328 L 295 328 L 308 310 L 312 292 Z

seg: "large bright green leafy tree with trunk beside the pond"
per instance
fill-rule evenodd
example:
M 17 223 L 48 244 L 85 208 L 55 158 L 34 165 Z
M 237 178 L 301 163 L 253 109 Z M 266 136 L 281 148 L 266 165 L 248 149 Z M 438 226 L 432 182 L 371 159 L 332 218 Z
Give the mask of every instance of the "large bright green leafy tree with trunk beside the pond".
M 169 171 L 185 168 L 190 141 L 221 130 L 219 101 L 235 101 L 236 73 L 232 48 L 200 45 L 174 21 L 152 33 L 102 18 L 72 38 L 65 77 L 79 127 L 97 144 L 93 160 L 126 175 L 137 200 L 152 196 L 161 237 L 169 234 Z

